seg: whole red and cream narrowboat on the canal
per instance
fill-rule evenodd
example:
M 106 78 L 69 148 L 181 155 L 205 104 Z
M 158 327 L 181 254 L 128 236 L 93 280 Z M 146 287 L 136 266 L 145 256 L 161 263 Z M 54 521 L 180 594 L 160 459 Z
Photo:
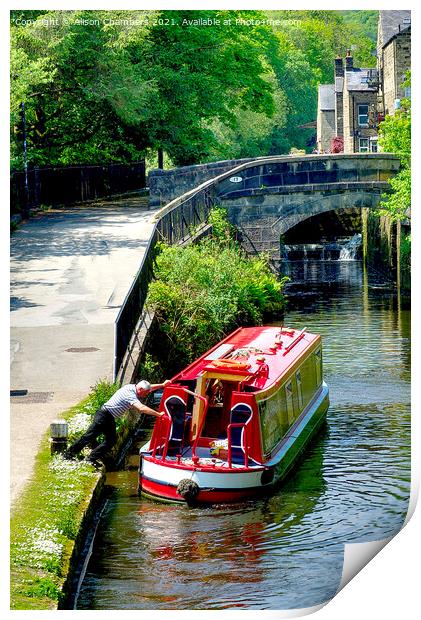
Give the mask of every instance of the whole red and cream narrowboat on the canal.
M 269 493 L 328 406 L 319 335 L 239 328 L 164 388 L 164 415 L 140 450 L 139 493 L 189 504 Z

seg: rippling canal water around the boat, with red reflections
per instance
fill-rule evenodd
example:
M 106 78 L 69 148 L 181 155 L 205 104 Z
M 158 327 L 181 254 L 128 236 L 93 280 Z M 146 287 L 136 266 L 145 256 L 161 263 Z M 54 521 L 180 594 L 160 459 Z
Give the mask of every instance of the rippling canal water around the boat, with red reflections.
M 398 532 L 410 490 L 410 315 L 359 261 L 292 262 L 285 324 L 323 336 L 327 425 L 279 491 L 189 509 L 109 475 L 78 609 L 291 609 L 334 596 L 344 543 Z

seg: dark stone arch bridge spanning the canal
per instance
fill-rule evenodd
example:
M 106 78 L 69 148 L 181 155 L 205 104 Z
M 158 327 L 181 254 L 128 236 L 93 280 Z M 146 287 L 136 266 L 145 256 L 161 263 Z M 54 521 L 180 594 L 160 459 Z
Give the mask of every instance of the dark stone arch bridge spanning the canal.
M 179 196 L 159 214 L 206 193 L 227 209 L 249 250 L 278 258 L 280 235 L 304 220 L 376 208 L 398 170 L 399 159 L 388 153 L 276 156 L 152 171 L 149 182 L 152 204 Z

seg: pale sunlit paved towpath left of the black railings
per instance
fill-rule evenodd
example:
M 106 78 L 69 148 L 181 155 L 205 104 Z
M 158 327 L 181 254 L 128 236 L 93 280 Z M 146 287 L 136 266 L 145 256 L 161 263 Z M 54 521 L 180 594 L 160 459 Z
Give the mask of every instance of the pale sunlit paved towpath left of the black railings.
M 51 211 L 12 235 L 10 388 L 28 391 L 11 397 L 12 503 L 50 422 L 111 379 L 114 321 L 153 228 L 154 211 L 136 205 Z

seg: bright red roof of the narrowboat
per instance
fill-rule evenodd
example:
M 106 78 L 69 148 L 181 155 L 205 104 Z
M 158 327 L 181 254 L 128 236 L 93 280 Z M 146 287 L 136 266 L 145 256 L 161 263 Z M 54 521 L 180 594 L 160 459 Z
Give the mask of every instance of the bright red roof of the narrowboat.
M 196 379 L 204 372 L 232 375 L 264 390 L 275 383 L 320 336 L 287 327 L 240 327 L 176 375 Z

